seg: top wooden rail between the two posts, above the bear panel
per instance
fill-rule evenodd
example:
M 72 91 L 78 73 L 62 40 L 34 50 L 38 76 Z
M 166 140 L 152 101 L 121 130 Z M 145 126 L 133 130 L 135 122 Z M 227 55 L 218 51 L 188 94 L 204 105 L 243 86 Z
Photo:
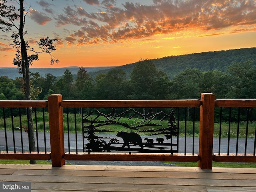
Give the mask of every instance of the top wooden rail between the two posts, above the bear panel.
M 199 107 L 202 102 L 192 100 L 64 100 L 64 108 L 108 108 L 108 107 Z

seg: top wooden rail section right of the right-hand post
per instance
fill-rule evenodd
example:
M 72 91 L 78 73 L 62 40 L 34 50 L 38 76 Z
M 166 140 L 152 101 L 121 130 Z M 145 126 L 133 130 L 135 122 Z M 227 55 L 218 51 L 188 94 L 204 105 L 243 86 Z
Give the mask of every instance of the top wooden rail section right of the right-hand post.
M 217 99 L 216 107 L 256 107 L 256 99 Z

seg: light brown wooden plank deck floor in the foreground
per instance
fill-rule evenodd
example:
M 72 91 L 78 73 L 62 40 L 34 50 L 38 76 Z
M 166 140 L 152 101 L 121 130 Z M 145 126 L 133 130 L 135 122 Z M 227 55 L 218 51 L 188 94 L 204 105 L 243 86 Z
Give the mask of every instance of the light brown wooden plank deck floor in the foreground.
M 256 169 L 0 164 L 0 181 L 30 181 L 32 192 L 255 192 Z

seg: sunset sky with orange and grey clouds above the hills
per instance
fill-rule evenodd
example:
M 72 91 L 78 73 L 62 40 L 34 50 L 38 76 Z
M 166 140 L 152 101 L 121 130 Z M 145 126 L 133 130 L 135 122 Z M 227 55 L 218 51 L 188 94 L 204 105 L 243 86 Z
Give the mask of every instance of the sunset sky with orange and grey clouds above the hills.
M 57 38 L 33 68 L 120 66 L 142 59 L 256 47 L 255 0 L 25 0 L 26 40 Z M 12 4 L 15 1 L 11 1 Z M 14 50 L 0 32 L 0 67 Z M 28 52 L 28 54 L 32 54 Z

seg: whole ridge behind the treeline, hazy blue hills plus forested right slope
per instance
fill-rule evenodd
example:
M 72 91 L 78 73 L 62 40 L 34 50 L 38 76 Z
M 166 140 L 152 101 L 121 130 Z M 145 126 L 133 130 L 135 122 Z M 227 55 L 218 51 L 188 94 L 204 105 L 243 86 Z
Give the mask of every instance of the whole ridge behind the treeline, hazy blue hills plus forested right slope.
M 146 58 L 144 58 L 146 59 Z M 173 79 L 175 75 L 179 74 L 186 68 L 198 68 L 202 71 L 220 70 L 225 71 L 229 65 L 234 62 L 246 62 L 250 60 L 253 66 L 256 66 L 256 47 L 241 48 L 226 51 L 213 51 L 193 53 L 180 56 L 167 56 L 163 58 L 152 59 L 156 64 L 156 68 L 166 72 L 169 79 Z M 137 62 L 126 64 L 118 67 L 84 67 L 88 74 L 95 78 L 97 74 L 107 73 L 113 68 L 120 68 L 126 72 L 126 78 L 129 79 L 132 69 Z M 72 74 L 76 74 L 79 67 L 64 67 L 64 68 L 30 68 L 31 72 L 39 72 L 40 76 L 50 73 L 56 77 L 63 76 L 64 71 L 68 69 Z M 17 68 L 0 68 L 0 76 L 7 76 L 14 79 L 21 76 L 18 74 Z

